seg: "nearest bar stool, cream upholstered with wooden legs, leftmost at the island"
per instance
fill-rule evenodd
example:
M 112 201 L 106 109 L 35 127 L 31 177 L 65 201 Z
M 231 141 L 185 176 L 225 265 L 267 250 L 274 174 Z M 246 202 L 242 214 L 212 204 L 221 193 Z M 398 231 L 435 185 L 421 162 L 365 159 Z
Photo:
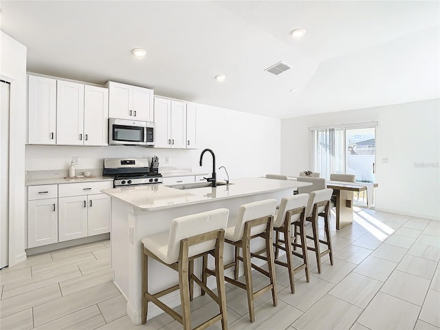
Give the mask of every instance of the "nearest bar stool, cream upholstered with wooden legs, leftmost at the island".
M 179 321 L 184 330 L 191 329 L 190 298 L 192 281 L 219 305 L 220 312 L 203 322 L 196 329 L 205 329 L 221 320 L 221 328 L 228 329 L 226 319 L 225 282 L 223 276 L 223 243 L 225 228 L 228 224 L 229 210 L 220 208 L 208 212 L 179 217 L 171 221 L 169 232 L 161 232 L 142 239 L 142 324 L 146 323 L 148 302 L 151 301 L 167 314 Z M 215 258 L 214 276 L 217 277 L 217 295 L 192 274 L 194 259 L 212 254 Z M 148 292 L 148 257 L 159 261 L 179 273 L 179 284 L 156 294 Z M 202 274 L 203 276 L 203 274 Z M 203 278 L 206 276 L 203 276 Z M 162 301 L 160 297 L 180 290 L 182 314 L 178 314 Z

